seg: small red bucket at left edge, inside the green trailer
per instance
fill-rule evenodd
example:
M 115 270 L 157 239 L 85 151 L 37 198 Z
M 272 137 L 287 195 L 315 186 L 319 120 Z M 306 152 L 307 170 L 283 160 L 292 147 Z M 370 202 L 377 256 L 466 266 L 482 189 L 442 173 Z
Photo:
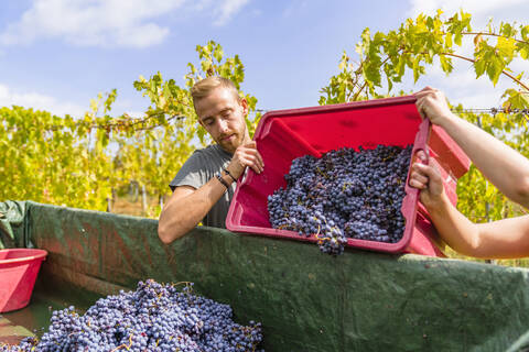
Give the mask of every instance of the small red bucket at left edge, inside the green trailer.
M 28 306 L 46 255 L 35 249 L 0 250 L 0 312 Z

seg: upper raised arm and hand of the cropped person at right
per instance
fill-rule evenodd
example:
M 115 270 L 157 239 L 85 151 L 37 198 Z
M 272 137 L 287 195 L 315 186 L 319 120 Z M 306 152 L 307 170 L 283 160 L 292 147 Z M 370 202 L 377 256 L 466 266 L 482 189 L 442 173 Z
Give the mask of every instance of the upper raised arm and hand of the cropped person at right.
M 474 124 L 454 116 L 444 95 L 430 87 L 415 94 L 419 112 L 446 133 L 505 196 L 529 208 L 529 161 Z

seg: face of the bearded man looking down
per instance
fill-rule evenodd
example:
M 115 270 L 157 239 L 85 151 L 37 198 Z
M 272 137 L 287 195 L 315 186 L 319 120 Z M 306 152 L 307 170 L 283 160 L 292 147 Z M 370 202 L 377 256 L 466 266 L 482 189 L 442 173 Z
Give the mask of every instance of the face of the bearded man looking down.
M 234 153 L 248 138 L 245 117 L 248 105 L 239 100 L 234 91 L 218 87 L 207 97 L 195 102 L 198 122 L 223 150 Z

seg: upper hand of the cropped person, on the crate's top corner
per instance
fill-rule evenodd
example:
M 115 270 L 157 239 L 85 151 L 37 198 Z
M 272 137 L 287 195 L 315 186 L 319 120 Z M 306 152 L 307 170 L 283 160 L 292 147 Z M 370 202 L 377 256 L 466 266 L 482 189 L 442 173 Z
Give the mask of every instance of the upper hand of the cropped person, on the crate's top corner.
M 453 117 L 444 94 L 438 89 L 427 87 L 414 94 L 417 110 L 422 118 L 429 118 L 433 124 L 442 125 L 443 121 Z

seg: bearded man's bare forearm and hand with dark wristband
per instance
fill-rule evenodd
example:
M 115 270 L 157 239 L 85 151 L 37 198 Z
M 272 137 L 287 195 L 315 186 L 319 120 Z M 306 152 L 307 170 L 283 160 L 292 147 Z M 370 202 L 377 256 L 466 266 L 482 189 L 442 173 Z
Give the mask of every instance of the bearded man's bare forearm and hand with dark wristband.
M 237 179 L 247 166 L 258 174 L 264 167 L 256 142 L 239 146 L 227 169 Z M 224 173 L 222 175 L 227 185 L 233 183 L 231 177 Z M 160 240 L 163 243 L 171 243 L 190 232 L 204 219 L 225 191 L 226 187 L 216 177 L 197 189 L 191 186 L 176 187 L 160 215 L 158 224 Z

